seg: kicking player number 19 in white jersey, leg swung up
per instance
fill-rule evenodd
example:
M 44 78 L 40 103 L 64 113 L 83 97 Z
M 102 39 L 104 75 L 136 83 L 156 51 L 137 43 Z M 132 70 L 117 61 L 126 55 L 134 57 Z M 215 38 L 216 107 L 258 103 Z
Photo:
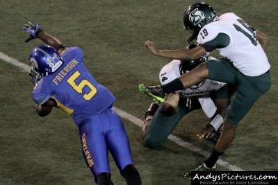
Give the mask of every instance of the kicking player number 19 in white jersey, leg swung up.
M 236 91 L 227 108 L 222 134 L 210 157 L 193 170 L 213 170 L 216 161 L 234 140 L 236 126 L 249 112 L 252 105 L 270 89 L 270 64 L 265 55 L 269 38 L 251 28 L 234 13 L 219 18 L 206 3 L 194 3 L 183 16 L 184 26 L 197 38 L 194 49 L 158 50 L 152 41 L 145 46 L 153 55 L 177 60 L 195 60 L 206 52 L 216 50 L 224 58 L 209 60 L 166 85 L 149 87 L 139 85 L 140 91 L 165 101 L 165 94 L 186 89 L 205 78 L 235 85 Z M 186 173 L 185 177 L 191 177 Z

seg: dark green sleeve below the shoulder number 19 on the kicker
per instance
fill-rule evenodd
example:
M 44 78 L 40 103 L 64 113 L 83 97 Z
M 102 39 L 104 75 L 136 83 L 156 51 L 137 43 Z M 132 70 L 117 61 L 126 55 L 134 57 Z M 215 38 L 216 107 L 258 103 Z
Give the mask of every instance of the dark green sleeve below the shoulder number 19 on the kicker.
M 230 37 L 225 33 L 219 33 L 214 39 L 204 44 L 200 44 L 207 52 L 211 52 L 214 49 L 222 49 L 230 44 Z

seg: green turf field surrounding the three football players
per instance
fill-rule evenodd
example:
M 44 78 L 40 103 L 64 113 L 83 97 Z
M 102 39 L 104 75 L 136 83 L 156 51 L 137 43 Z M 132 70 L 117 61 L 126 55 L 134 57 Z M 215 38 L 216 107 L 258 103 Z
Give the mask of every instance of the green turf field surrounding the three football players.
M 115 107 L 143 120 L 152 102 L 138 91 L 142 82 L 158 84 L 158 72 L 169 60 L 152 56 L 146 39 L 159 49 L 186 46 L 183 10 L 195 1 L 0 0 L 0 51 L 28 64 L 39 39 L 25 44 L 22 26 L 36 21 L 46 33 L 67 46 L 83 49 L 85 63 L 101 84 L 111 89 Z M 238 126 L 234 146 L 222 159 L 243 170 L 278 170 L 278 1 L 206 1 L 218 12 L 235 12 L 271 38 L 268 58 L 272 87 Z M 54 109 L 47 117 L 36 115 L 28 73 L 0 60 L 0 184 L 94 184 L 81 154 L 78 129 L 72 118 Z M 123 118 L 134 162 L 145 185 L 190 184 L 184 173 L 204 160 L 203 155 L 167 141 L 160 150 L 142 147 L 140 127 Z M 192 112 L 174 135 L 210 151 L 213 146 L 195 136 L 208 118 Z M 219 166 L 218 170 L 227 170 Z M 125 184 L 111 159 L 114 184 Z

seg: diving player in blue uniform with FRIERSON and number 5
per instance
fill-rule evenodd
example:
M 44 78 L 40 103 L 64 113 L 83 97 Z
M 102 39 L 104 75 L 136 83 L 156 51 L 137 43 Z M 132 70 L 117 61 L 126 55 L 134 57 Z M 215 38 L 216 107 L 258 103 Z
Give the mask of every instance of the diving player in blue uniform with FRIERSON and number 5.
M 35 22 L 28 22 L 23 30 L 30 34 L 25 42 L 38 37 L 47 44 L 36 46 L 29 57 L 38 114 L 47 116 L 58 107 L 72 116 L 79 127 L 83 157 L 97 184 L 113 184 L 108 151 L 126 184 L 142 184 L 122 120 L 111 109 L 115 97 L 85 67 L 83 51 L 64 46 Z

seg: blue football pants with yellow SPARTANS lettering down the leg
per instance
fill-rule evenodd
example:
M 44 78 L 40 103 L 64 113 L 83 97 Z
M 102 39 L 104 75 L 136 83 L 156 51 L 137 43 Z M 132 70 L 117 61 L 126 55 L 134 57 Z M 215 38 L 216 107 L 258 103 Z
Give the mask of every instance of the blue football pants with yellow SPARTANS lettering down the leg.
M 79 134 L 83 157 L 96 182 L 100 173 L 111 173 L 108 150 L 121 173 L 126 165 L 133 164 L 124 124 L 112 109 L 106 109 L 101 114 L 92 115 L 82 121 Z

